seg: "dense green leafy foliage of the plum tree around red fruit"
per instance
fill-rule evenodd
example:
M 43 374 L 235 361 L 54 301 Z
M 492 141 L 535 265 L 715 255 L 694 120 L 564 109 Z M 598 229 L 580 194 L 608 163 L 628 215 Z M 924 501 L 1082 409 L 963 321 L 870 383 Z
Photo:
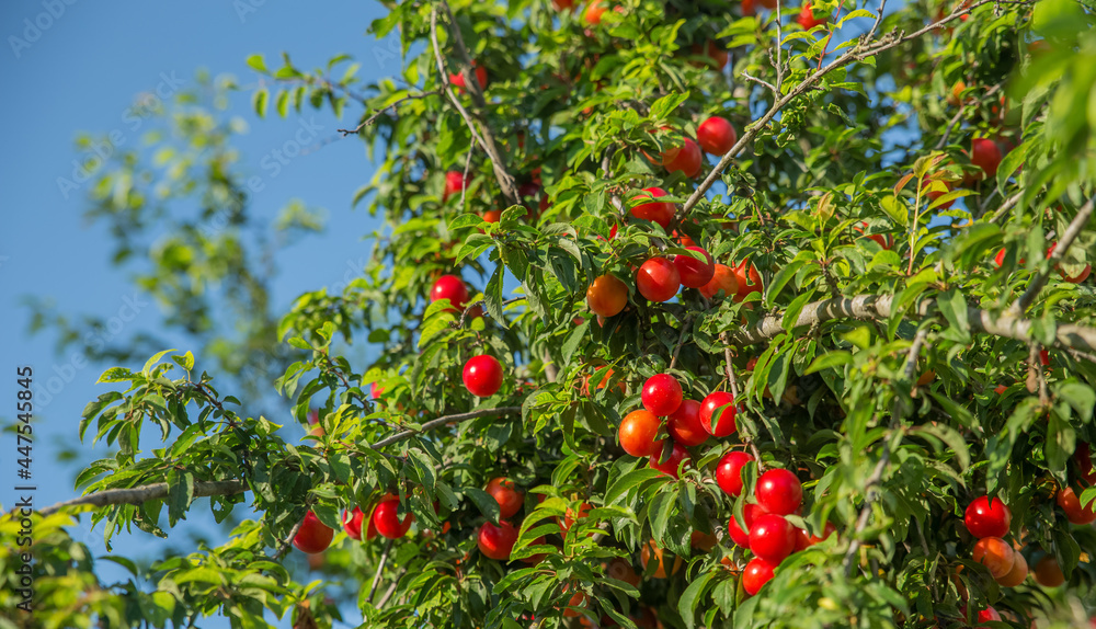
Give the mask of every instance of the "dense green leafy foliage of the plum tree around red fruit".
M 359 84 L 345 56 L 313 72 L 288 56 L 273 71 L 248 59 L 273 85 L 254 94 L 261 116 L 294 115 L 306 96 L 358 110 L 354 133 L 381 163 L 352 203 L 381 228 L 362 277 L 301 295 L 276 325 L 263 319 L 248 256 L 237 251 L 220 270 L 254 288 L 241 308 L 262 305 L 262 316 L 246 317 L 254 336 L 204 351 L 247 364 L 238 351 L 267 333 L 292 347 L 275 390 L 293 407 L 279 422 L 307 425 L 317 412 L 322 431 L 304 443 L 249 416 L 255 398 L 220 396 L 195 376 L 190 353 L 104 374 L 112 390 L 88 405 L 81 434 L 118 453 L 78 485 L 167 488 L 94 507 L 107 540 L 130 526 L 167 535 L 212 482 L 244 485 L 213 495 L 219 519 L 244 501 L 254 513 L 220 546 L 153 565 L 140 603 L 123 598 L 132 583 L 106 586 L 82 604 L 87 617 L 133 625 L 133 605 L 145 605 L 157 627 L 214 614 L 251 627 L 265 626 L 264 609 L 293 609 L 295 626 L 326 627 L 353 606 L 366 627 L 960 627 L 992 605 L 1013 626 L 1084 621 L 1096 606 L 1096 531 L 1069 524 L 1055 496 L 1073 487 L 1096 500 L 1080 447 L 1096 441 L 1096 291 L 1066 281 L 1096 254 L 1085 219 L 1096 183 L 1092 7 L 975 2 L 960 20 L 950 7 L 906 3 L 876 22 L 875 4 L 820 1 L 819 14 L 841 14 L 832 37 L 829 25 L 789 21 L 795 8 L 778 25 L 775 12 L 742 15 L 721 1 L 628 0 L 596 25 L 582 8 L 546 2 L 449 7 L 391 4 L 373 24 L 377 37 L 398 30 L 403 55 L 401 76 L 377 84 Z M 729 73 L 709 46 L 726 47 Z M 448 75 L 469 69 L 465 48 L 488 71 L 483 101 L 447 91 Z M 711 160 L 695 180 L 666 172 L 658 156 L 711 115 L 732 123 L 744 150 L 711 187 L 699 183 Z M 228 150 L 210 121 L 193 137 L 207 136 Z M 1007 153 L 993 176 L 972 162 L 980 138 Z M 463 173 L 453 194 L 447 174 Z M 511 198 L 506 175 L 533 194 Z M 231 195 L 221 183 L 203 194 Z M 670 227 L 629 213 L 651 186 L 677 208 Z M 118 222 L 161 219 L 96 198 Z M 213 264 L 197 252 L 240 245 L 171 225 L 142 284 L 178 305 Z M 318 224 L 297 206 L 282 225 Z M 1074 231 L 1048 261 L 1049 244 Z M 648 301 L 635 267 L 690 255 L 683 235 L 721 264 L 755 267 L 757 290 Z M 431 302 L 443 274 L 470 285 L 466 309 Z M 584 291 L 604 274 L 625 282 L 629 304 L 602 319 Z M 178 317 L 201 330 L 206 314 Z M 346 357 L 362 344 L 379 350 L 370 365 Z M 461 384 L 478 354 L 506 374 L 482 399 Z M 690 447 L 677 477 L 617 441 L 643 382 L 662 373 L 687 399 L 733 390 L 739 407 L 737 432 Z M 167 447 L 141 448 L 146 423 Z M 713 480 L 729 449 L 760 457 L 738 498 Z M 666 439 L 652 460 L 670 453 Z M 773 468 L 803 483 L 788 521 L 836 534 L 750 596 L 750 556 L 727 528 L 744 522 Z M 480 527 L 502 518 L 482 489 L 498 477 L 524 491 L 510 562 L 477 547 Z M 307 586 L 281 565 L 307 510 L 341 530 L 343 510 L 368 516 L 388 494 L 415 518 L 407 537 L 338 533 L 322 582 Z M 962 516 L 985 494 L 1011 507 L 1008 539 L 1029 565 L 1052 558 L 1066 586 L 1004 587 L 972 560 Z M 80 549 L 56 535 L 48 552 Z M 96 583 L 90 561 L 76 565 L 68 577 Z M 43 614 L 66 624 L 62 601 L 52 607 Z

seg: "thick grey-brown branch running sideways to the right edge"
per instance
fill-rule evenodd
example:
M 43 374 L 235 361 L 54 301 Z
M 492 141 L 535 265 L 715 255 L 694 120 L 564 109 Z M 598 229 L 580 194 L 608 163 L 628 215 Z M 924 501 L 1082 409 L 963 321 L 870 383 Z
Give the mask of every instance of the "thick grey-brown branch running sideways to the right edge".
M 892 295 L 857 295 L 841 299 L 824 299 L 803 307 L 796 320 L 796 328 L 807 328 L 836 319 L 878 321 L 891 316 Z M 907 312 L 911 318 L 924 318 L 935 311 L 935 300 L 922 301 Z M 749 330 L 732 333 L 731 343 L 753 345 L 784 333 L 781 314 L 765 317 Z M 1027 343 L 1031 340 L 1031 321 L 1008 313 L 994 314 L 974 307 L 967 308 L 967 320 L 973 332 L 1015 339 Z M 1055 347 L 1096 352 L 1096 328 L 1063 323 L 1057 330 Z

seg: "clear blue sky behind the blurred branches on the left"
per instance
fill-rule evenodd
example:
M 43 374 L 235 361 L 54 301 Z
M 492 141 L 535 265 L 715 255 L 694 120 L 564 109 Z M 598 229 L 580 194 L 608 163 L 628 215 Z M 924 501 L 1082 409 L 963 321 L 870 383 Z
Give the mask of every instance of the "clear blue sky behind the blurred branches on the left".
M 56 5 L 56 16 L 49 14 L 50 5 Z M 71 176 L 72 160 L 78 158 L 77 133 L 119 129 L 127 141 L 136 144 L 139 131 L 130 133 L 123 115 L 137 94 L 155 90 L 165 78 L 193 83 L 199 67 L 213 75 L 233 73 L 241 84 L 253 84 L 256 77 L 244 59 L 254 53 L 272 58 L 286 50 L 304 68 L 347 53 L 362 64 L 359 76 L 366 82 L 395 75 L 398 61 L 378 54 L 386 53 L 390 42 L 378 44 L 366 35 L 369 22 L 381 12 L 379 3 L 349 0 L 0 3 L 0 73 L 9 85 L 9 96 L 0 104 L 9 146 L 0 151 L 0 422 L 7 428 L 14 420 L 16 366 L 33 366 L 38 385 L 54 376 L 68 380 L 47 405 L 39 400 L 36 409 L 33 481 L 38 488 L 37 506 L 76 495 L 75 467 L 55 462 L 56 444 L 75 441 L 84 404 L 106 389 L 94 385 L 101 366 L 72 368 L 69 355 L 55 355 L 55 338 L 26 334 L 27 311 L 20 300 L 30 295 L 50 297 L 61 312 L 112 317 L 127 298 L 133 299 L 125 276 L 109 264 L 110 239 L 104 230 L 87 226 L 81 218 L 82 192 L 66 198 L 58 188 L 57 178 Z M 37 25 L 27 26 L 27 21 Z M 249 102 L 250 93 L 241 93 L 235 103 L 235 113 L 250 124 L 239 148 L 242 164 L 263 174 L 260 160 L 293 137 L 298 121 L 260 121 Z M 346 110 L 350 118 L 359 113 Z M 266 178 L 269 185 L 254 198 L 253 210 L 267 216 L 293 197 L 329 210 L 327 236 L 302 241 L 277 261 L 278 309 L 301 291 L 344 282 L 349 268 L 362 266 L 358 261 L 365 259 L 369 244 L 361 237 L 374 228 L 364 210 L 350 209 L 354 191 L 373 175 L 363 145 L 353 137 L 339 139 L 335 131 L 352 121 L 336 121 L 330 114 L 315 117 L 323 127 L 319 144 L 326 144 L 293 160 L 277 178 Z M 153 330 L 158 323 L 156 307 L 148 305 L 121 333 Z M 8 432 L 0 436 L 0 504 L 7 510 L 15 500 L 14 436 Z M 100 445 L 89 458 L 105 454 Z M 204 524 L 192 519 L 184 528 L 204 528 Z M 92 552 L 104 553 L 101 527 L 87 528 L 87 524 L 82 530 L 77 528 L 73 536 L 87 541 Z M 163 547 L 137 531 L 115 538 L 114 548 L 122 554 L 156 557 Z M 104 572 L 121 577 L 117 571 Z M 356 625 L 353 613 L 347 618 Z

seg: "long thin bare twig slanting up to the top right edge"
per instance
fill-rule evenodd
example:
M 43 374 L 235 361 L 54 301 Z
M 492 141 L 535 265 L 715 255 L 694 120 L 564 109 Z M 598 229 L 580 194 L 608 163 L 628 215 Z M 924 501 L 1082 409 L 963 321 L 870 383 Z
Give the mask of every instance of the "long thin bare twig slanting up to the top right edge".
M 990 2 L 993 1 L 994 0 L 980 0 L 979 2 L 975 2 L 967 8 L 962 8 L 960 5 L 949 15 L 941 18 L 937 22 L 928 24 L 923 28 L 918 28 L 917 31 L 909 35 L 892 33 L 887 37 L 880 38 L 877 43 L 872 45 L 866 45 L 864 42 L 861 42 L 850 50 L 846 52 L 842 56 L 831 61 L 826 67 L 822 68 L 821 70 L 815 70 L 814 72 L 812 72 L 809 77 L 803 79 L 801 83 L 796 85 L 795 89 L 788 92 L 783 99 L 779 99 L 778 101 L 773 103 L 773 106 L 769 107 L 769 110 L 765 112 L 765 114 L 761 118 L 758 118 L 756 122 L 746 127 L 745 131 L 742 134 L 742 137 L 739 138 L 739 141 L 734 142 L 734 146 L 731 147 L 731 149 L 727 151 L 727 153 L 723 155 L 722 158 L 720 158 L 719 163 L 716 164 L 716 167 L 708 172 L 708 175 L 704 179 L 703 182 L 700 182 L 700 185 L 697 186 L 696 191 L 694 191 L 693 194 L 688 197 L 688 199 L 685 202 L 685 205 L 682 207 L 682 211 L 688 213 L 690 209 L 693 209 L 693 207 L 695 207 L 696 204 L 699 203 L 701 198 L 704 198 L 704 195 L 705 193 L 708 192 L 708 188 L 710 188 L 716 183 L 716 181 L 719 180 L 720 173 L 722 173 L 723 170 L 726 170 L 727 167 L 729 167 L 731 162 L 734 161 L 734 158 L 737 158 L 739 153 L 742 152 L 742 149 L 750 141 L 753 140 L 753 138 L 761 131 L 761 129 L 764 128 L 764 126 L 767 125 L 769 121 L 772 121 L 776 116 L 776 114 L 779 113 L 779 111 L 783 110 L 788 103 L 801 96 L 808 90 L 812 89 L 814 84 L 818 83 L 823 77 L 836 70 L 837 68 L 852 64 L 853 61 L 861 61 L 864 59 L 867 59 L 868 57 L 872 57 L 875 55 L 878 55 L 879 53 L 900 46 L 905 42 L 921 37 L 925 33 L 928 33 L 929 31 L 937 28 L 943 24 L 947 24 L 952 20 L 957 20 L 961 14 L 969 13 L 971 10 L 977 9 L 978 7 L 981 7 L 983 4 L 989 4 Z M 777 7 L 779 7 L 779 3 L 777 4 Z M 779 55 L 779 50 L 777 50 L 777 54 Z M 778 80 L 777 85 L 779 84 L 780 83 Z

